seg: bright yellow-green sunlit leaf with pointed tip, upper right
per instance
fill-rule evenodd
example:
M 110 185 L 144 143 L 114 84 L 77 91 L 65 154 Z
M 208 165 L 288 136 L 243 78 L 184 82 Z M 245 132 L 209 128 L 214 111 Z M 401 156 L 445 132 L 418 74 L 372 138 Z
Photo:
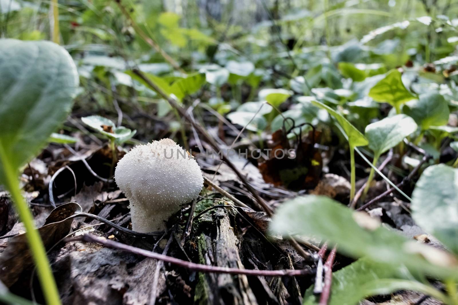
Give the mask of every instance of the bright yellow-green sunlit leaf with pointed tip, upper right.
M 384 79 L 376 83 L 369 91 L 369 96 L 376 102 L 386 102 L 397 109 L 403 103 L 415 98 L 405 88 L 401 79 L 401 72 L 397 69 L 389 71 Z

